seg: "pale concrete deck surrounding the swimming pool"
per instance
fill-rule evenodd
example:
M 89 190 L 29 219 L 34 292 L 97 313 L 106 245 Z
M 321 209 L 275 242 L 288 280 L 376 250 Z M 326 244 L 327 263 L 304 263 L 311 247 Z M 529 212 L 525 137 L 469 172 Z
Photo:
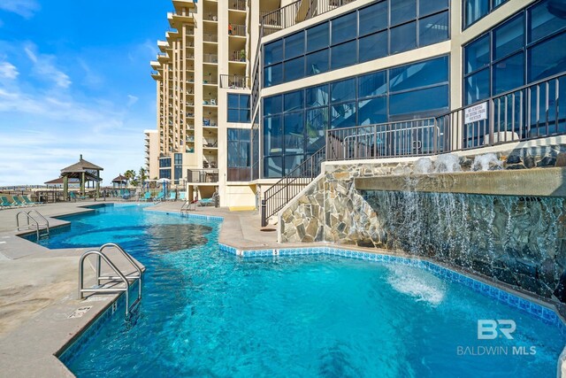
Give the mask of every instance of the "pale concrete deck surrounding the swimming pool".
M 93 212 L 84 206 L 96 204 L 103 202 L 43 204 L 35 209 L 50 217 L 51 227 L 57 227 L 68 222 L 51 217 Z M 182 202 L 164 202 L 147 210 L 180 216 L 181 205 Z M 18 212 L 19 209 L 0 211 L 0 377 L 73 376 L 55 354 L 88 328 L 89 323 L 108 308 L 118 295 L 96 295 L 91 299 L 78 300 L 78 262 L 87 249 L 49 250 L 20 238 L 15 230 Z M 218 242 L 240 250 L 329 245 L 279 244 L 276 227 L 261 228 L 260 215 L 256 212 L 197 207 L 190 213 L 222 217 L 224 220 Z M 351 245 L 347 248 L 391 254 L 391 251 Z M 123 260 L 117 263 L 124 266 Z M 88 265 L 85 272 L 91 273 Z M 69 318 L 73 312 L 85 306 L 91 306 L 88 312 L 81 317 Z

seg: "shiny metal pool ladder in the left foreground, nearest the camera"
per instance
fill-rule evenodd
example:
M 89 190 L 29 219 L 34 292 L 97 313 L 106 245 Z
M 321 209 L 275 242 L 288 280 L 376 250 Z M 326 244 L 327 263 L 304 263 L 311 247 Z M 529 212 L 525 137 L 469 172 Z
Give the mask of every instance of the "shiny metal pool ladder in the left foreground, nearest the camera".
M 122 272 L 111 258 L 108 257 L 108 253 L 104 252 L 106 249 L 113 248 L 119 251 L 120 255 L 126 258 L 129 265 L 134 267 L 134 273 L 125 274 Z M 93 288 L 84 287 L 84 262 L 88 256 L 96 256 L 96 286 Z M 102 261 L 104 261 L 111 270 L 116 275 L 102 275 Z M 138 282 L 138 297 L 135 299 L 134 303 L 130 305 L 130 283 Z M 107 281 L 104 284 L 103 281 Z M 116 286 L 120 283 L 124 283 L 124 287 Z M 124 292 L 126 294 L 126 319 L 129 317 L 130 312 L 134 309 L 142 300 L 142 268 L 134 261 L 134 258 L 130 256 L 126 251 L 122 249 L 118 244 L 106 243 L 98 250 L 86 251 L 80 256 L 79 260 L 79 299 L 84 298 L 85 293 L 117 293 Z

